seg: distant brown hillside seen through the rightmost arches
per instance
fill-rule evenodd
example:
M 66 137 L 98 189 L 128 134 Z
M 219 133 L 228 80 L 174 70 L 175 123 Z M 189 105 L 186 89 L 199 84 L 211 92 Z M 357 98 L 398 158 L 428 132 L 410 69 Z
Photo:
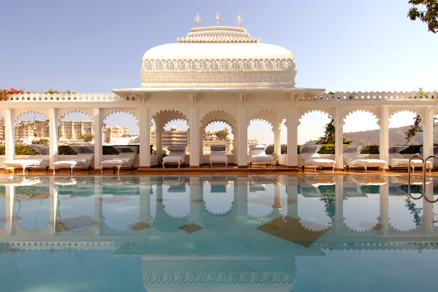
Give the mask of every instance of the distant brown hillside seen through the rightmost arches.
M 406 143 L 406 131 L 411 126 L 389 129 L 389 145 L 404 145 Z M 380 130 L 344 133 L 344 137 L 357 144 L 379 145 Z M 438 130 L 434 131 L 434 141 L 438 141 Z M 423 133 L 419 132 L 412 138 L 411 145 L 423 144 Z

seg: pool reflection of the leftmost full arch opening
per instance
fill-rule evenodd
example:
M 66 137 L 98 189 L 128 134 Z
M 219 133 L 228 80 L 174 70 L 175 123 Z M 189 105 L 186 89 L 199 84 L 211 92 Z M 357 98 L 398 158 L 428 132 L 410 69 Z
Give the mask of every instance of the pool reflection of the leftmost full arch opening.
M 21 187 L 16 187 L 16 194 Z M 35 187 L 30 195 L 18 195 L 14 201 L 18 226 L 26 231 L 45 229 L 50 223 L 49 187 Z

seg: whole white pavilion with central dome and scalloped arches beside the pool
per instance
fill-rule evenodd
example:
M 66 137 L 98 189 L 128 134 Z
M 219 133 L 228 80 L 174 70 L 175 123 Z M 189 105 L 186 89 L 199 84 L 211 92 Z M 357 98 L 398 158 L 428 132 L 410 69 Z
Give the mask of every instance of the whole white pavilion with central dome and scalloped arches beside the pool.
M 198 25 L 199 23 L 197 23 Z M 315 69 L 316 70 L 316 69 Z M 113 89 L 113 93 L 10 94 L 1 101 L 5 119 L 5 160 L 14 159 L 16 120 L 27 112 L 41 113 L 49 120 L 50 166 L 58 158 L 58 127 L 70 112 L 91 116 L 95 132 L 104 127 L 111 113 L 133 114 L 139 125 L 139 170 L 159 164 L 161 155 L 151 155 L 150 127 L 156 125 L 157 153 L 161 153 L 164 126 L 185 120 L 190 128 L 190 155 L 186 163 L 199 168 L 208 162 L 203 155 L 205 127 L 220 121 L 234 135 L 229 163 L 247 168 L 247 128 L 252 120 L 273 127 L 274 151 L 280 153 L 280 129 L 287 128 L 287 154 L 279 165 L 299 165 L 297 128 L 300 118 L 311 111 L 328 113 L 336 127 L 336 168 L 343 167 L 343 125 L 352 112 L 362 110 L 378 119 L 380 159 L 388 161 L 389 118 L 402 110 L 420 115 L 424 156 L 433 154 L 433 122 L 438 112 L 437 92 L 336 92 L 295 87 L 295 62 L 282 47 L 260 42 L 245 28 L 230 26 L 195 27 L 176 43 L 153 47 L 143 55 L 141 87 Z M 95 168 L 102 161 L 102 137 L 95 135 Z

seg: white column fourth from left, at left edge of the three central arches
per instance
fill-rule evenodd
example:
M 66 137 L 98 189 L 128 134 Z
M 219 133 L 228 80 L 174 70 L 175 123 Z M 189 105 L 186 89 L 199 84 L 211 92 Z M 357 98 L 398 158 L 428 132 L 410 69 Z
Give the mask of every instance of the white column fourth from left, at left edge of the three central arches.
M 146 106 L 140 108 L 140 167 L 150 168 L 150 127 L 149 127 L 149 110 Z

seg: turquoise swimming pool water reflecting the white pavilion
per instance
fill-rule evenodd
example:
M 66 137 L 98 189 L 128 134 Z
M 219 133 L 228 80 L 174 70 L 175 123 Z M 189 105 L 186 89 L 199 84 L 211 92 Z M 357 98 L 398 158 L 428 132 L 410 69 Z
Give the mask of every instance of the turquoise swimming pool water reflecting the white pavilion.
M 436 291 L 436 180 L 0 180 L 2 292 Z

